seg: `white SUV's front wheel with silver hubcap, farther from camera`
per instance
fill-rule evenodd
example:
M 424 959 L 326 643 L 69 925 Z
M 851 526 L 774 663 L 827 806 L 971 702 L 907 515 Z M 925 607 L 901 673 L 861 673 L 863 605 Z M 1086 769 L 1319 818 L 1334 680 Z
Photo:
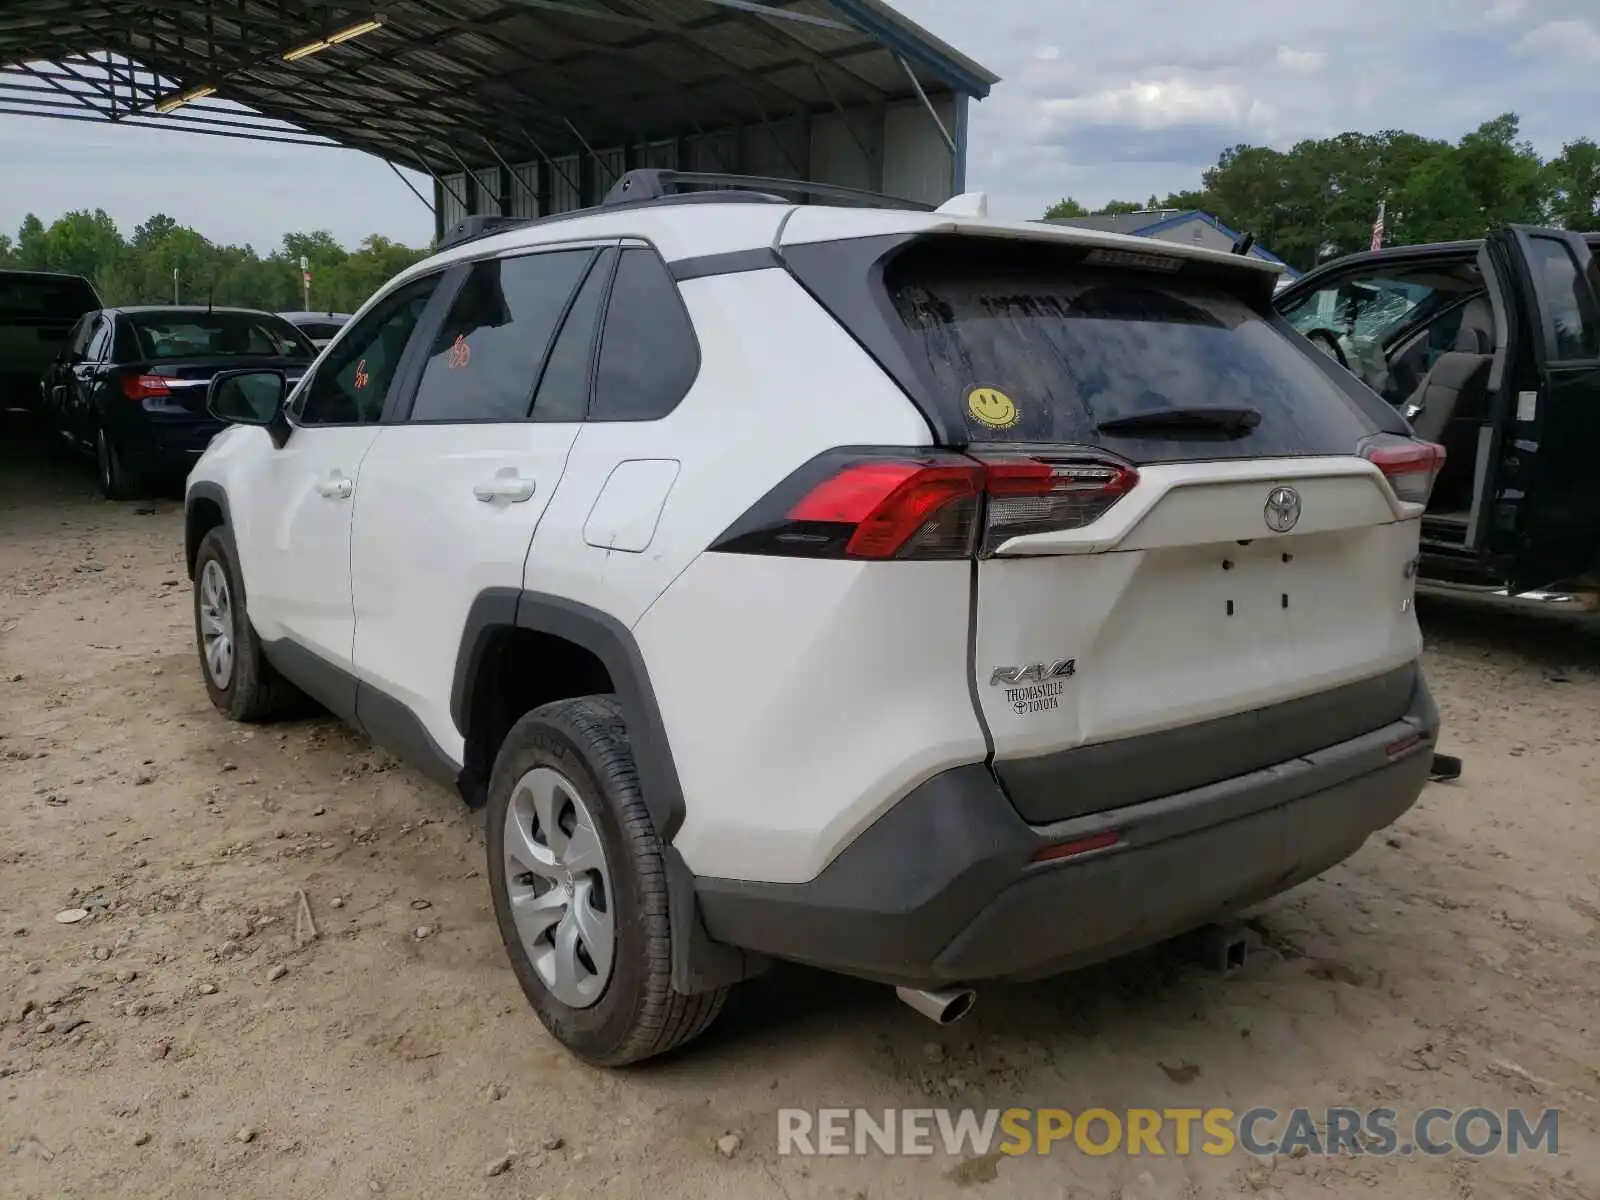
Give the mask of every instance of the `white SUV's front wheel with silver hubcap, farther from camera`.
M 251 725 L 293 715 L 304 696 L 261 654 L 227 526 L 211 530 L 200 542 L 194 600 L 200 675 L 218 710 Z

